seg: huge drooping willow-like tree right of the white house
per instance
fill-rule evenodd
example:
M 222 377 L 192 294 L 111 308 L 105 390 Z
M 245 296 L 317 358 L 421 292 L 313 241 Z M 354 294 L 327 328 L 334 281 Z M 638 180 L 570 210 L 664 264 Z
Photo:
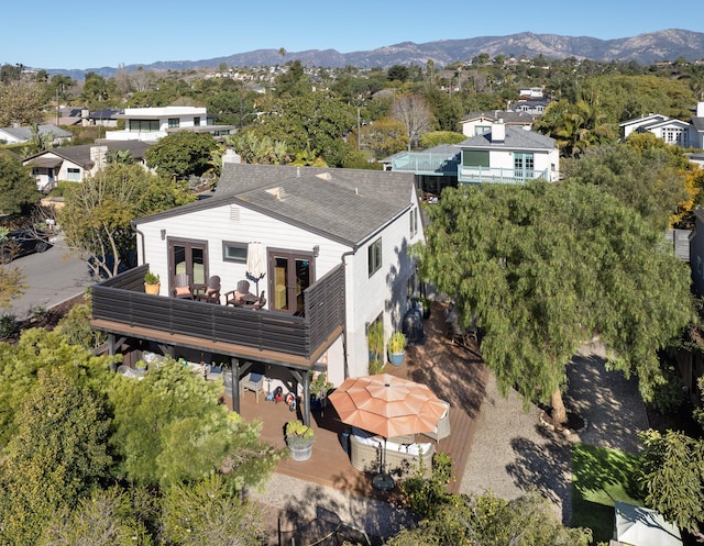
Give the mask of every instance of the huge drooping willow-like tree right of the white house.
M 692 319 L 690 272 L 662 232 L 594 186 L 465 186 L 429 209 L 421 274 L 484 328 L 503 392 L 550 400 L 562 423 L 565 367 L 600 336 L 608 366 L 636 371 L 646 400 L 657 352 Z

